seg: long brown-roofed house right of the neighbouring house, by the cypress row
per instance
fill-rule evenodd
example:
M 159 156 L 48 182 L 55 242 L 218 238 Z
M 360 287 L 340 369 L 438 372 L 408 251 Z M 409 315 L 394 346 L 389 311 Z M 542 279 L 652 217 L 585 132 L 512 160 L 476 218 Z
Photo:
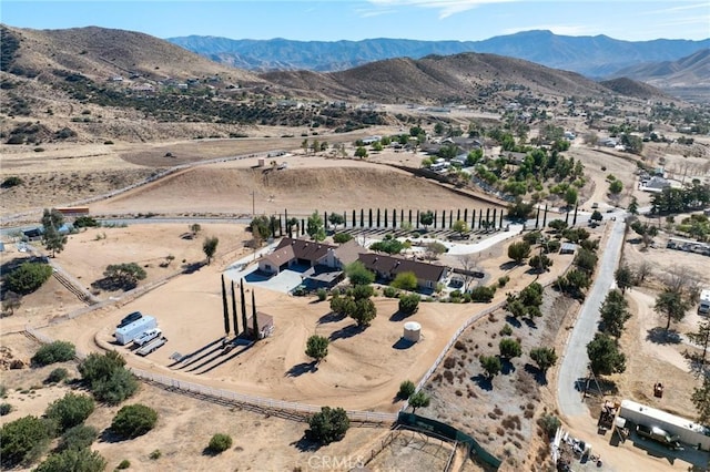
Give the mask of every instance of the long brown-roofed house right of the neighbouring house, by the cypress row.
M 445 266 L 383 254 L 361 254 L 357 260 L 363 263 L 368 270 L 375 273 L 377 277 L 385 280 L 393 280 L 397 274 L 414 273 L 417 278 L 417 286 L 425 289 L 434 289 L 448 275 L 448 268 Z

